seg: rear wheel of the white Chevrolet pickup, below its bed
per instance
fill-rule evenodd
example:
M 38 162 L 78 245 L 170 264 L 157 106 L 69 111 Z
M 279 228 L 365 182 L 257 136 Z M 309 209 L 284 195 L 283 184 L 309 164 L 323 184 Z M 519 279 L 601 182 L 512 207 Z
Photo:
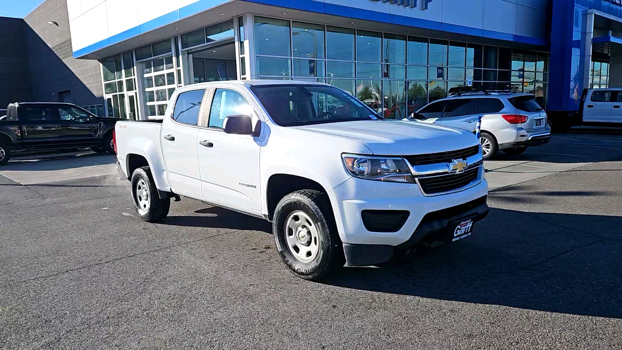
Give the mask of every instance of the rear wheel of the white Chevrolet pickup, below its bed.
M 147 201 L 141 201 L 144 197 L 137 194 L 137 187 L 147 192 Z M 138 216 L 147 222 L 157 222 L 169 215 L 170 210 L 170 198 L 160 199 L 158 196 L 156 184 L 154 183 L 153 176 L 151 175 L 151 169 L 148 166 L 143 166 L 134 170 L 132 174 L 132 203 Z

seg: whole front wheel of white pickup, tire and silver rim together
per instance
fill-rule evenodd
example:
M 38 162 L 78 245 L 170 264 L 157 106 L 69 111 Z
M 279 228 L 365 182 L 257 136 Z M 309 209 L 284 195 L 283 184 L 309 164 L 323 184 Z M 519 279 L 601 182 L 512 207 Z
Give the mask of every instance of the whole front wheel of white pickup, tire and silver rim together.
M 345 264 L 328 196 L 295 191 L 277 204 L 272 232 L 285 266 L 297 277 L 321 280 Z

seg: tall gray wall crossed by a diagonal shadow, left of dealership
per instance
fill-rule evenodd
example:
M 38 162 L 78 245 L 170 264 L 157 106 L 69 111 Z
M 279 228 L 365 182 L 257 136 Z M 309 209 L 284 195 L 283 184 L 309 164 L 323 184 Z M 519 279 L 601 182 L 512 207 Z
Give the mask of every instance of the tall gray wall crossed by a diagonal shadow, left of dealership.
M 26 21 L 25 39 L 30 70 L 32 100 L 59 101 L 78 105 L 103 103 L 100 64 L 73 59 L 72 37 L 65 0 L 47 0 L 32 11 Z M 49 24 L 55 21 L 58 26 Z

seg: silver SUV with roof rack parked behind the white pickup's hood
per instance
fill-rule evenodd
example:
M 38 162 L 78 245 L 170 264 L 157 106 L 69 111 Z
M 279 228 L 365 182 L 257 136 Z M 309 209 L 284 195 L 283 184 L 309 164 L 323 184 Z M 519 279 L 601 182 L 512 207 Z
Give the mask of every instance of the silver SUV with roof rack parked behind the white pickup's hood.
M 415 112 L 412 118 L 422 123 L 454 126 L 475 133 L 477 120 L 481 116 L 480 143 L 485 160 L 496 156 L 499 149 L 515 156 L 527 147 L 549 143 L 547 115 L 534 95 L 465 90 L 467 92 L 457 93 L 450 90 L 455 95 L 429 103 Z

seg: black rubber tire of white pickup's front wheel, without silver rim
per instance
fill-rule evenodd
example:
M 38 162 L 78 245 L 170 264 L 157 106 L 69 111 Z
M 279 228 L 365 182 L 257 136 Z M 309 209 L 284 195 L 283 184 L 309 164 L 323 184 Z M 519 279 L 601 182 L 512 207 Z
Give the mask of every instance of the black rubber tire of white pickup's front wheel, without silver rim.
M 318 242 L 315 242 L 317 253 L 310 262 L 303 262 L 295 257 L 292 253 L 292 250 L 295 252 L 295 248 L 290 248 L 287 241 L 286 235 L 289 235 L 290 239 L 296 237 L 292 236 L 292 232 L 288 232 L 286 225 L 290 222 L 288 220 L 290 216 L 292 216 L 291 220 L 295 220 L 293 218 L 298 216 L 295 214 L 297 212 L 302 212 L 310 218 L 310 227 L 313 227 L 317 234 Z M 303 224 L 302 227 L 304 226 Z M 337 232 L 330 201 L 327 194 L 323 192 L 301 190 L 283 197 L 274 211 L 272 232 L 281 259 L 290 272 L 297 277 L 317 281 L 345 265 L 343 245 Z M 309 237 L 311 237 L 310 234 Z M 314 244 L 313 240 L 315 237 L 309 241 L 310 245 Z

